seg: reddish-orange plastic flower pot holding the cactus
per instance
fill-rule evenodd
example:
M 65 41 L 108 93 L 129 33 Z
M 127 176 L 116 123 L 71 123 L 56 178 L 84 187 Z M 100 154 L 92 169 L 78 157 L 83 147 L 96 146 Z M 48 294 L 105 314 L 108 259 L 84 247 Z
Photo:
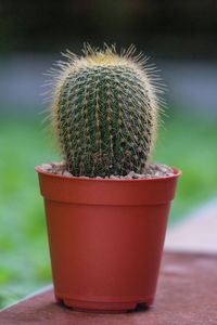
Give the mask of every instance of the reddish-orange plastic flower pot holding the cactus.
M 39 173 L 54 292 L 75 310 L 124 312 L 154 300 L 181 172 L 145 180 Z

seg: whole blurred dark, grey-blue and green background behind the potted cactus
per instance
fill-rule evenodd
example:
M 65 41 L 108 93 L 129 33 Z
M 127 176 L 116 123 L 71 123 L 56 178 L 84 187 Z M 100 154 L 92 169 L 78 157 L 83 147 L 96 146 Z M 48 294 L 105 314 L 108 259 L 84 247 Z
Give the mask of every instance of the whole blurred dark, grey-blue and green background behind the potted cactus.
M 42 75 L 84 41 L 136 43 L 169 91 L 152 160 L 182 170 L 170 224 L 217 192 L 217 23 L 213 1 L 2 1 L 0 308 L 51 282 L 34 167 L 61 159 L 42 125 Z M 112 22 L 112 23 L 111 23 Z

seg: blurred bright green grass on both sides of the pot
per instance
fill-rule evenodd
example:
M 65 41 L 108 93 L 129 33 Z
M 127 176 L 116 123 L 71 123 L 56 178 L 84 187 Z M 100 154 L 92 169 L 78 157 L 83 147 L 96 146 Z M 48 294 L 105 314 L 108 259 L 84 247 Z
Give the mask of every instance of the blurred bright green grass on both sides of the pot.
M 183 171 L 170 221 L 216 192 L 216 120 L 171 110 L 154 160 Z M 60 156 L 39 116 L 0 116 L 0 308 L 51 282 L 49 248 L 34 167 Z

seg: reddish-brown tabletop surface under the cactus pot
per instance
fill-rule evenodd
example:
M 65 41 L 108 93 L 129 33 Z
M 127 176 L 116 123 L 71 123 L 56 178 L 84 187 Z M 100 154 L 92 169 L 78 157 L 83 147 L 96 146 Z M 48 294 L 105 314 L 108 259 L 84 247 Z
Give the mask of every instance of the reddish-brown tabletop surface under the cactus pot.
M 126 314 L 76 312 L 54 301 L 49 287 L 0 312 L 1 325 L 215 325 L 217 256 L 164 255 L 155 303 Z

